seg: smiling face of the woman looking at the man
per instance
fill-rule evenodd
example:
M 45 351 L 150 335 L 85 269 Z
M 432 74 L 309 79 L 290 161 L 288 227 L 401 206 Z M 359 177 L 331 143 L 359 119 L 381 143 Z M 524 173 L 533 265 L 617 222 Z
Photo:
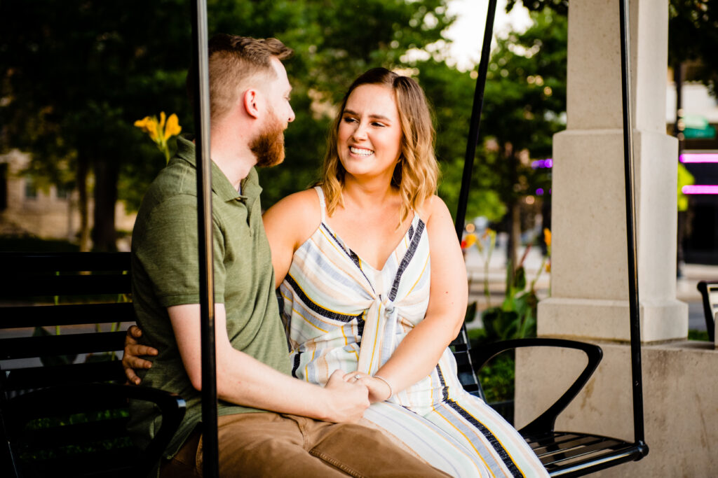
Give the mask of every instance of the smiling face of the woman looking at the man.
M 337 134 L 339 159 L 355 178 L 386 176 L 401 155 L 401 125 L 393 90 L 361 85 L 347 99 Z

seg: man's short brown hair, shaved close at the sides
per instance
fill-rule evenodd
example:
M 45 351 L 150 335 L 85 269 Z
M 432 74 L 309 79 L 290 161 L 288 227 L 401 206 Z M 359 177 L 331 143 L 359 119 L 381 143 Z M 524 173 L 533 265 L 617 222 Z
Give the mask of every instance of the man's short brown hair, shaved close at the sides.
M 210 117 L 228 113 L 238 95 L 259 76 L 274 78 L 271 59 L 284 60 L 294 51 L 276 38 L 256 39 L 220 33 L 208 42 L 210 71 Z M 187 94 L 195 106 L 195 65 L 187 74 Z

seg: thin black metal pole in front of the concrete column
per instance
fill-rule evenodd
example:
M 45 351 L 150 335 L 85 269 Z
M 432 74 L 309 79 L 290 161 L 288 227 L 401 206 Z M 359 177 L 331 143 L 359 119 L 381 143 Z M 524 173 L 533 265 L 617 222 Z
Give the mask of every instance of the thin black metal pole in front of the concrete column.
M 628 0 L 620 0 L 621 86 L 623 93 L 623 165 L 626 196 L 626 237 L 628 243 L 628 304 L 630 309 L 630 353 L 633 376 L 633 435 L 635 442 L 645 446 L 643 429 L 643 387 L 640 367 L 640 310 L 638 301 L 638 260 L 635 242 L 635 163 L 633 158 L 633 130 L 630 68 L 630 22 Z M 648 453 L 647 446 L 645 453 Z

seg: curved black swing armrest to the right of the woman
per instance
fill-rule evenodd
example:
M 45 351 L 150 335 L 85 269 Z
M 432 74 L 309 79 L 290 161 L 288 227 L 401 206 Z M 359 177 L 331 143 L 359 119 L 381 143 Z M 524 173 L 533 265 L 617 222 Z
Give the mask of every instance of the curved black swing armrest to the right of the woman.
M 523 436 L 550 433 L 554 431 L 556 418 L 564 411 L 569 403 L 578 395 L 579 391 L 586 385 L 593 375 L 603 357 L 603 351 L 598 345 L 592 343 L 577 342 L 576 340 L 565 340 L 557 338 L 525 338 L 515 340 L 502 340 L 500 342 L 482 345 L 480 349 L 471 350 L 472 363 L 477 371 L 480 370 L 491 358 L 499 353 L 519 347 L 560 347 L 582 350 L 588 358 L 588 363 L 578 378 L 559 397 L 556 402 L 539 415 L 530 424 L 524 426 L 519 433 Z

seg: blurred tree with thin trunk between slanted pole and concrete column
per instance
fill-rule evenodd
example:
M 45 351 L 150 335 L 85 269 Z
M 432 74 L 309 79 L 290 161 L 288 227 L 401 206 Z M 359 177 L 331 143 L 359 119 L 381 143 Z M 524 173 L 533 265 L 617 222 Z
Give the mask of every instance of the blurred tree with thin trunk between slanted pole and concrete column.
M 498 172 L 494 187 L 507 209 L 508 258 L 514 267 L 520 201 L 550 187 L 545 170 L 532 168 L 531 159 L 549 158 L 553 135 L 565 128 L 567 20 L 550 9 L 531 17 L 534 23 L 526 32 L 510 32 L 498 41 L 481 123 L 484 140 L 493 140 L 485 161 Z

